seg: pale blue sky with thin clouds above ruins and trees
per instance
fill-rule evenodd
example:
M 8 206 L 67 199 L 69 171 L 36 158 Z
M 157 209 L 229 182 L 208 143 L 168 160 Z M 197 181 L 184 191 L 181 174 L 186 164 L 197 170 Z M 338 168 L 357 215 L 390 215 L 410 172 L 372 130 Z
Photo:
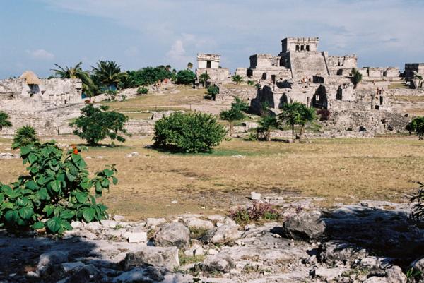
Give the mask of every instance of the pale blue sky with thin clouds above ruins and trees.
M 281 39 L 317 36 L 319 50 L 357 54 L 359 66 L 424 62 L 421 0 L 1 0 L 0 78 L 53 64 L 123 69 L 196 66 L 222 55 L 232 71 L 249 55 L 278 54 Z

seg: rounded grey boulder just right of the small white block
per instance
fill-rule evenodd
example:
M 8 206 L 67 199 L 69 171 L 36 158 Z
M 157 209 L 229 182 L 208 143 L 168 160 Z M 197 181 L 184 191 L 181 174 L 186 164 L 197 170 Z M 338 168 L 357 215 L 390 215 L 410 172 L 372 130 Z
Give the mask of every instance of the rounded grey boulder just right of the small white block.
M 190 231 L 179 222 L 163 225 L 155 234 L 156 246 L 176 246 L 187 248 L 190 241 Z

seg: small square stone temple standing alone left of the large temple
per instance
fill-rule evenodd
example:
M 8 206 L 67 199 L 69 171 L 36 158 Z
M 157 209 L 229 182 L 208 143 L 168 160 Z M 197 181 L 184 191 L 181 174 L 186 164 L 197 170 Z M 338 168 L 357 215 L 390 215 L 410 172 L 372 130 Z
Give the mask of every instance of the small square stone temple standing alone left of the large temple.
M 228 68 L 221 68 L 220 55 L 218 54 L 197 54 L 196 80 L 202 73 L 208 73 L 211 83 L 225 83 L 231 81 L 231 74 Z

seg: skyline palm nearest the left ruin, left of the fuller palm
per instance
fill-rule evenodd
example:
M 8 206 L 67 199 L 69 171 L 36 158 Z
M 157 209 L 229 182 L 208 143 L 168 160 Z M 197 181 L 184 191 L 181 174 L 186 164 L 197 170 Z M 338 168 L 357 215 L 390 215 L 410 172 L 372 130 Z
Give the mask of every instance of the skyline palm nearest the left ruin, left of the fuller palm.
M 90 73 L 88 71 L 83 71 L 81 65 L 83 62 L 79 62 L 73 67 L 65 66 L 64 68 L 59 66 L 58 64 L 54 64 L 57 66 L 57 69 L 52 69 L 54 71 L 54 75 L 59 78 L 79 78 L 83 84 L 83 92 L 88 97 L 93 97 L 98 94 L 98 88 L 90 77 Z

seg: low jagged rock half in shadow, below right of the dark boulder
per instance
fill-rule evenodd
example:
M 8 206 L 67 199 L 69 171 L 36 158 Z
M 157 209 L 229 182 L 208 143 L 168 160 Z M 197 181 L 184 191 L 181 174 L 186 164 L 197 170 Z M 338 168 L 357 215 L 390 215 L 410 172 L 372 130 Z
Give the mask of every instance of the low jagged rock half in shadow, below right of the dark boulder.
M 353 260 L 367 257 L 367 251 L 352 243 L 342 241 L 329 241 L 319 246 L 319 260 L 327 265 L 336 265 L 342 263 L 350 264 Z

